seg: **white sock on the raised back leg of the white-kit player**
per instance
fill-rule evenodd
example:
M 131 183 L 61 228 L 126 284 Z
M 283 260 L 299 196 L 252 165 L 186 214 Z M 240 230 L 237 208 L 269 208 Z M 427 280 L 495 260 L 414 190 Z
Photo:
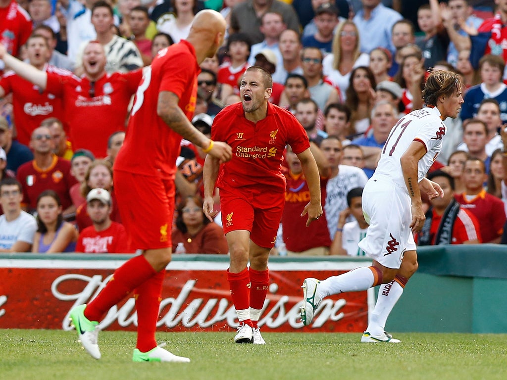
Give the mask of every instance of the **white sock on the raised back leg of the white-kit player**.
M 357 292 L 371 288 L 373 281 L 373 272 L 370 267 L 360 267 L 343 275 L 329 277 L 320 281 L 318 292 L 322 298 L 331 294 Z

